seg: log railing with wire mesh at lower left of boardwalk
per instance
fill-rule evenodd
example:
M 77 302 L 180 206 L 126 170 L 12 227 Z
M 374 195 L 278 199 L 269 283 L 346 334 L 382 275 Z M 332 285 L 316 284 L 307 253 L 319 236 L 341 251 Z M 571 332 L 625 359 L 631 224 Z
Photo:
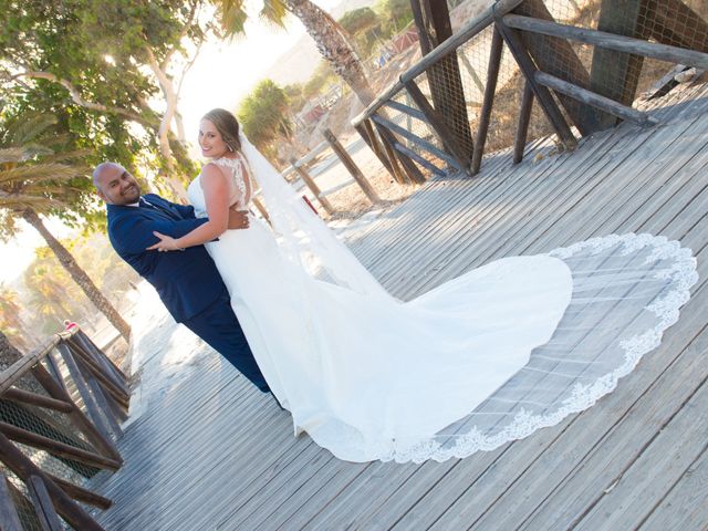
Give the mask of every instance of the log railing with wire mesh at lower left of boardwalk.
M 123 465 L 128 400 L 125 374 L 79 327 L 0 373 L 1 529 L 102 529 L 77 502 L 111 507 L 82 483 Z

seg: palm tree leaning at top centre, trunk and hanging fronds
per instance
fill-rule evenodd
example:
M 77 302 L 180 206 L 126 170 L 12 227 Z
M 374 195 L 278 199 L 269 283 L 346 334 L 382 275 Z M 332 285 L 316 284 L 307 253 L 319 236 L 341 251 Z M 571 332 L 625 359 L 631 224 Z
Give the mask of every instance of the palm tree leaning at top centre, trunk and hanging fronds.
M 248 18 L 243 9 L 244 0 L 214 0 L 214 3 L 226 33 L 242 33 Z M 263 0 L 260 14 L 263 19 L 282 27 L 288 12 L 300 19 L 310 37 L 314 39 L 320 53 L 332 64 L 334 72 L 350 85 L 364 105 L 368 105 L 374 100 L 374 91 L 346 31 L 326 11 L 310 0 Z

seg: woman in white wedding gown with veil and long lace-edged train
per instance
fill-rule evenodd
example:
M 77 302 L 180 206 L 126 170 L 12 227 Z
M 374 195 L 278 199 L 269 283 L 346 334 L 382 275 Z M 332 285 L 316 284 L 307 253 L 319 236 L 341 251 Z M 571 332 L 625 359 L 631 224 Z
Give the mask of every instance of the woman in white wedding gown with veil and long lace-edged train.
M 200 123 L 210 159 L 189 186 L 204 243 L 295 434 L 351 461 L 466 457 L 552 426 L 614 389 L 678 319 L 689 249 L 607 236 L 493 261 L 403 302 L 389 295 L 239 133 Z M 225 231 L 260 186 L 272 228 Z M 215 238 L 218 237 L 217 241 Z

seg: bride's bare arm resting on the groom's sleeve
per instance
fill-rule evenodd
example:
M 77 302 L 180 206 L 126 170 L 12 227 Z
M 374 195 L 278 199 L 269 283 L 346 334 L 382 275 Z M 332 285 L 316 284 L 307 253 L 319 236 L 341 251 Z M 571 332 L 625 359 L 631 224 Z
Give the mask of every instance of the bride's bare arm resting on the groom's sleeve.
M 226 232 L 229 225 L 229 184 L 227 177 L 217 165 L 208 164 L 201 169 L 200 179 L 209 220 L 176 239 L 155 233 L 160 241 L 148 247 L 148 250 L 173 251 L 200 246 Z

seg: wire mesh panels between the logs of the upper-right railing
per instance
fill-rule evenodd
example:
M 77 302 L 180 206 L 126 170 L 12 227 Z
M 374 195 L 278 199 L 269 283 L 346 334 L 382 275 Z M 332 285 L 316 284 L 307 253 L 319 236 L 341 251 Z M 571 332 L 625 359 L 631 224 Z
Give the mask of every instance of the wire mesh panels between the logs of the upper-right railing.
M 460 2 L 452 2 L 450 7 Z M 513 13 L 629 37 L 645 42 L 708 52 L 708 2 L 705 0 L 628 0 L 626 2 L 525 0 L 513 9 Z M 490 82 L 488 76 L 494 22 L 491 15 L 486 20 L 485 29 L 461 44 L 457 44 L 451 53 L 436 58 L 435 62 L 427 65 L 425 73 L 414 80 L 435 112 L 442 118 L 445 126 L 457 138 L 462 150 L 470 157 L 473 149 L 479 147 L 475 145 L 478 140 L 475 136 L 482 117 L 485 92 Z M 681 81 L 680 75 L 676 79 L 674 75 L 688 69 L 686 65 L 613 51 L 564 38 L 531 31 L 522 31 L 518 34 L 523 48 L 528 50 L 534 69 L 627 107 L 642 107 L 646 98 L 665 96 L 671 86 Z M 420 64 L 425 61 L 426 58 Z M 662 85 L 657 84 L 659 80 Z M 489 129 L 485 143 L 486 156 L 514 144 L 527 81 L 527 76 L 519 67 L 518 59 L 514 59 L 504 44 L 493 91 L 493 105 L 489 115 Z M 555 102 L 565 122 L 574 127 L 576 136 L 618 123 L 615 115 L 592 107 L 575 97 L 556 92 L 551 92 L 550 97 L 551 102 Z M 421 111 L 410 102 L 403 84 L 391 100 Z M 665 98 L 664 104 L 671 104 L 670 96 Z M 394 115 L 393 119 L 408 134 L 433 143 L 437 148 L 449 153 L 448 146 L 438 142 L 439 135 L 435 134 L 428 119 L 416 119 L 403 115 Z M 537 101 L 531 111 L 525 140 L 545 137 L 556 131 Z M 405 138 L 406 134 L 398 134 L 396 137 Z M 405 139 L 404 143 L 417 155 L 413 159 L 426 177 L 430 177 L 435 171 L 421 164 L 419 157 L 444 167 L 445 173 L 454 169 L 440 157 L 436 157 L 430 149 L 412 142 L 410 138 Z M 556 143 L 560 144 L 558 139 Z

